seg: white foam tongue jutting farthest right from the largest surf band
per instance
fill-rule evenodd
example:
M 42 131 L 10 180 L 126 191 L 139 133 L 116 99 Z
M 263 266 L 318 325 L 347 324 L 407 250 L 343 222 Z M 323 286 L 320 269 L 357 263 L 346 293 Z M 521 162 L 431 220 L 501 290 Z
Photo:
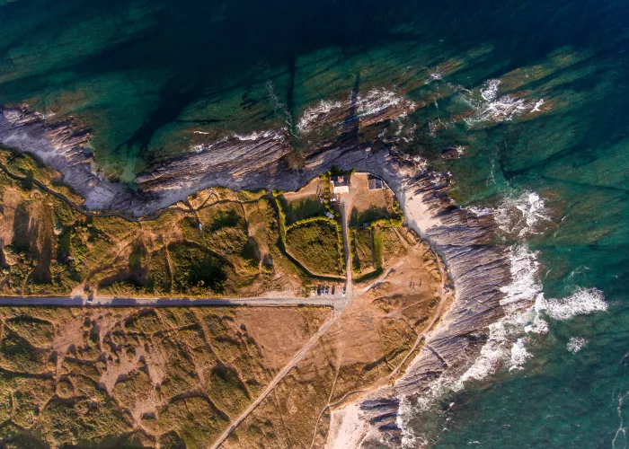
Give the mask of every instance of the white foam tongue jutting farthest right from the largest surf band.
M 570 320 L 577 315 L 607 311 L 603 292 L 598 288 L 577 287 L 573 295 L 560 299 L 545 299 L 541 296 L 536 301 L 536 311 L 544 311 L 554 320 Z

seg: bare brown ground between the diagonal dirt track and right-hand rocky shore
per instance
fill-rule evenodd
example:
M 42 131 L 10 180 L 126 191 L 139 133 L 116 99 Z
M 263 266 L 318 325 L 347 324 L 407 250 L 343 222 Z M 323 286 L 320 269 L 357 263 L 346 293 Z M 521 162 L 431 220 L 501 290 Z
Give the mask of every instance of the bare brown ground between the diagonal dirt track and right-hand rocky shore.
M 226 447 L 322 447 L 331 407 L 403 373 L 418 336 L 442 311 L 442 277 L 428 244 L 404 231 L 399 239 L 403 256 L 389 259 L 383 276 L 355 287 L 350 306 Z

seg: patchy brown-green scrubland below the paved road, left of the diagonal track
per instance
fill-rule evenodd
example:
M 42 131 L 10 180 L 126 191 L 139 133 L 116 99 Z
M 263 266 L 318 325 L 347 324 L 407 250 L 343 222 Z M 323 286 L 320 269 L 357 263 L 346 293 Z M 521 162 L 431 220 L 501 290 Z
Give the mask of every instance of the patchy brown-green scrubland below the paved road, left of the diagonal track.
M 330 314 L 0 309 L 0 445 L 207 447 Z

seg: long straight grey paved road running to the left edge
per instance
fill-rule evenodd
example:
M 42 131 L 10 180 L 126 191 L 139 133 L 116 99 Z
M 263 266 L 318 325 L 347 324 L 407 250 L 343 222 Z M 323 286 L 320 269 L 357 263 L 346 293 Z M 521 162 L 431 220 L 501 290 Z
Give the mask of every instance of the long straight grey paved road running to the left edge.
M 94 298 L 93 307 L 190 307 L 190 306 L 235 306 L 249 305 L 261 307 L 279 307 L 296 305 L 323 305 L 333 307 L 340 301 L 330 297 L 325 298 Z M 63 307 L 80 307 L 85 304 L 85 299 L 76 296 L 0 296 L 0 306 L 3 305 L 55 305 Z

